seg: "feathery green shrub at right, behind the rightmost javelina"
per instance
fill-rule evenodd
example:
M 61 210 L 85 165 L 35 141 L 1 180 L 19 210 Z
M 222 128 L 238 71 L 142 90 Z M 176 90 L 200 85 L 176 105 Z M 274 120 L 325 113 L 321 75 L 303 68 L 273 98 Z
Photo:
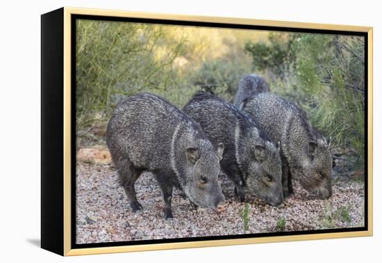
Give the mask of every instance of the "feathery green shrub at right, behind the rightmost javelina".
M 360 166 L 365 151 L 364 47 L 363 38 L 343 35 L 306 34 L 294 43 L 304 109 L 335 145 L 357 150 Z

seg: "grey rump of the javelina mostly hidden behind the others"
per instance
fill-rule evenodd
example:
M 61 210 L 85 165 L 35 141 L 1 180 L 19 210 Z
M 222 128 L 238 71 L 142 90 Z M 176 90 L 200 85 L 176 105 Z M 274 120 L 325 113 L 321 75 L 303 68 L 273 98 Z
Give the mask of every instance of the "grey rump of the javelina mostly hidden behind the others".
M 240 107 L 244 99 L 248 99 L 258 93 L 268 93 L 269 85 L 267 81 L 256 74 L 249 74 L 240 79 L 238 92 L 236 93 L 233 105 Z

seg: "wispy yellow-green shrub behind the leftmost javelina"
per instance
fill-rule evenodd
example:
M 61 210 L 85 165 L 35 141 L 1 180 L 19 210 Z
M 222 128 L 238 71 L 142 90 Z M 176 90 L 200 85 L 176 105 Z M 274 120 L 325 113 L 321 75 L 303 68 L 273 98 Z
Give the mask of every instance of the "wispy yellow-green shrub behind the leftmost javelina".
M 187 54 L 172 29 L 127 22 L 78 20 L 76 24 L 76 121 L 84 129 L 108 120 L 122 97 L 183 86 L 176 58 Z M 176 101 L 177 102 L 177 101 Z

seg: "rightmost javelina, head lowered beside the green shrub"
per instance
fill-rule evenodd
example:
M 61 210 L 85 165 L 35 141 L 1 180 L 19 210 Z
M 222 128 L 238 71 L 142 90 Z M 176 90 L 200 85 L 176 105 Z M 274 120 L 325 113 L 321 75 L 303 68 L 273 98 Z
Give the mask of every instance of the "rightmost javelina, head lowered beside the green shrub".
M 312 127 L 306 112 L 270 93 L 244 99 L 241 108 L 274 141 L 281 142 L 284 198 L 293 193 L 292 177 L 318 198 L 329 198 L 332 194 L 330 142 Z

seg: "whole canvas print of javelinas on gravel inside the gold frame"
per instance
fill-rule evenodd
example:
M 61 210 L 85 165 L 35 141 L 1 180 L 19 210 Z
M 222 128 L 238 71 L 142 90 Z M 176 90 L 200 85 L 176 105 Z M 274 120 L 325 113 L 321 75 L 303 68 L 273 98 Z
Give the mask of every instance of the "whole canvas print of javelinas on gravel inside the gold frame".
M 76 19 L 75 242 L 365 226 L 365 37 Z

